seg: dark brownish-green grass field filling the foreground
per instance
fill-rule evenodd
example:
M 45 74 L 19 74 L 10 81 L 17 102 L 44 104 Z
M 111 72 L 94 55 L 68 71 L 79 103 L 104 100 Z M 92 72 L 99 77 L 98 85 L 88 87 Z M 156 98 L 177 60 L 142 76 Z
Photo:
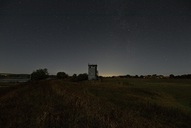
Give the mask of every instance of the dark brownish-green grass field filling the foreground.
M 1 85 L 0 126 L 190 128 L 191 80 L 104 78 Z

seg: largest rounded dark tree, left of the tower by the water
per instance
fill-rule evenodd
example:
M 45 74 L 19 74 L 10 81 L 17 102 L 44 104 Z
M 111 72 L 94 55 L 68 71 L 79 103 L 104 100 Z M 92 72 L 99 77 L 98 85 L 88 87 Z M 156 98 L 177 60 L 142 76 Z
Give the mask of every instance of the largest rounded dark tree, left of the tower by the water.
M 48 69 L 37 69 L 31 74 L 31 80 L 42 80 L 48 77 Z

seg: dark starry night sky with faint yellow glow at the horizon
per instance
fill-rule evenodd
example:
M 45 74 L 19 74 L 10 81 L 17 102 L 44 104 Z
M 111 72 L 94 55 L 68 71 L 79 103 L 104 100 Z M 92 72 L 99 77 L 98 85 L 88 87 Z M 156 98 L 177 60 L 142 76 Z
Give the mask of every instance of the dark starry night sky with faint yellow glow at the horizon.
M 190 0 L 0 0 L 0 72 L 191 73 Z

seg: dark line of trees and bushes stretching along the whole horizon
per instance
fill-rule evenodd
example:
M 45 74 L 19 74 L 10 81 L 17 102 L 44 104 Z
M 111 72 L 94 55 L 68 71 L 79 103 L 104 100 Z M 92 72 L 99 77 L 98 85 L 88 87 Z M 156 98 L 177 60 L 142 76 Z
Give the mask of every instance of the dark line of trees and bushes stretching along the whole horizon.
M 99 76 L 101 79 L 102 76 Z M 120 76 L 112 76 L 112 78 L 154 78 L 154 79 L 191 79 L 191 74 L 184 74 L 184 75 L 169 75 L 169 76 L 163 76 L 163 75 L 120 75 Z M 31 74 L 0 74 L 0 79 L 31 79 L 31 80 L 43 80 L 43 79 L 65 79 L 70 80 L 73 82 L 78 81 L 84 81 L 88 80 L 88 74 L 82 73 L 82 74 L 73 74 L 72 76 L 69 76 L 65 72 L 58 72 L 56 75 L 49 75 L 48 69 L 37 69 L 33 71 Z

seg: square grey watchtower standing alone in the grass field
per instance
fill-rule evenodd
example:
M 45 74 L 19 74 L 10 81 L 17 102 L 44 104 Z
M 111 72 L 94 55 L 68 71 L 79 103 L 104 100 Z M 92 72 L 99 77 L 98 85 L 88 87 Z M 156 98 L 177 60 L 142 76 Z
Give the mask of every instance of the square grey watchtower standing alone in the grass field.
M 88 80 L 97 80 L 98 71 L 96 64 L 88 64 Z

